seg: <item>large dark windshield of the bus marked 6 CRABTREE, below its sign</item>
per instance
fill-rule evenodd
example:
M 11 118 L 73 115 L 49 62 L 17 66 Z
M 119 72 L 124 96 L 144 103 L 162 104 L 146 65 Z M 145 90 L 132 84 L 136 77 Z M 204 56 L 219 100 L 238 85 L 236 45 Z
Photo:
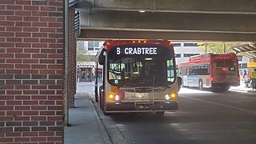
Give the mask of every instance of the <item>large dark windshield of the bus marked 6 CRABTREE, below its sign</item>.
M 167 51 L 168 53 L 169 51 Z M 174 59 L 170 54 L 109 57 L 108 78 L 116 86 L 168 86 L 174 82 Z

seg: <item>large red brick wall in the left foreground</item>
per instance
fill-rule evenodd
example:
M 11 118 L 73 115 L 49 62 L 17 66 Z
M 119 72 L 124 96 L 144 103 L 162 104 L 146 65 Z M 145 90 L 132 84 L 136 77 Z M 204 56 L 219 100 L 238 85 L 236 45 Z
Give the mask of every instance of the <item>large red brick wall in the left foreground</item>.
M 0 143 L 62 143 L 63 0 L 0 0 Z

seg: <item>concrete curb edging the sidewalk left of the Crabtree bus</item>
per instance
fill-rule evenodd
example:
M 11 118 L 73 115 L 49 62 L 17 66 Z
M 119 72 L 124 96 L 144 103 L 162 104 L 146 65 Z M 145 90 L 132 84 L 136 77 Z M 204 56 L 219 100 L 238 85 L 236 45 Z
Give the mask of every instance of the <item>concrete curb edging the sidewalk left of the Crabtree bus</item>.
M 93 107 L 94 116 L 96 119 L 96 122 L 98 123 L 98 126 L 101 129 L 102 132 L 102 138 L 104 139 L 106 144 L 112 144 L 110 140 L 110 135 L 106 132 L 106 127 L 103 125 L 102 120 L 100 119 L 98 112 L 96 110 L 96 107 L 94 106 L 93 100 L 90 98 L 90 106 Z

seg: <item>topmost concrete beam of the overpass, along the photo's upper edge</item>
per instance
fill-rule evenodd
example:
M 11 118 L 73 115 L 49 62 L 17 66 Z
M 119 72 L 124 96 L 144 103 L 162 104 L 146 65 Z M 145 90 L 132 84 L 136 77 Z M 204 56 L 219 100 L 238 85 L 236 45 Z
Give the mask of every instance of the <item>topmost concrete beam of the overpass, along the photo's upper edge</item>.
M 80 0 L 76 4 L 78 10 L 146 10 L 202 14 L 256 14 L 255 6 L 255 0 Z

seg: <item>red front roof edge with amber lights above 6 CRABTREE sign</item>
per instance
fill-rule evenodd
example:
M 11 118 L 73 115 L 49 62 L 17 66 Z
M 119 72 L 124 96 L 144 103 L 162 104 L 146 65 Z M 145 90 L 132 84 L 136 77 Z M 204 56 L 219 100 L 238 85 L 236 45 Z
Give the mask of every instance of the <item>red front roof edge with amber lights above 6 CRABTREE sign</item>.
M 110 50 L 111 47 L 114 46 L 122 46 L 122 45 L 135 45 L 135 44 L 154 44 L 154 45 L 162 45 L 167 47 L 173 47 L 172 43 L 167 40 L 106 40 L 103 43 L 106 50 Z

